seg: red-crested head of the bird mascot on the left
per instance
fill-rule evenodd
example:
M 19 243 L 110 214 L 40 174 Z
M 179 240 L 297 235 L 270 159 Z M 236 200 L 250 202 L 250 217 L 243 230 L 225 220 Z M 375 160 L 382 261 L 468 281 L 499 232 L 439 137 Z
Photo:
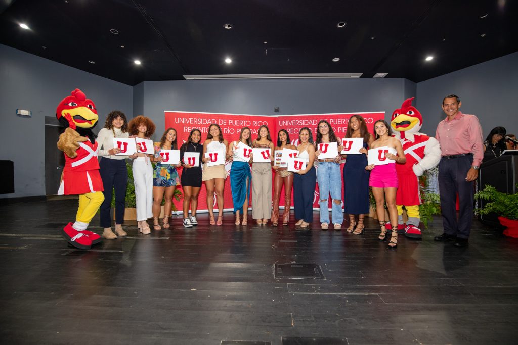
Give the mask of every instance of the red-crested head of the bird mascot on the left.
M 89 137 L 93 143 L 95 134 L 92 128 L 97 125 L 99 117 L 97 109 L 91 99 L 87 99 L 84 93 L 76 88 L 70 96 L 63 99 L 56 108 L 56 118 L 65 126 L 76 130 L 81 136 Z

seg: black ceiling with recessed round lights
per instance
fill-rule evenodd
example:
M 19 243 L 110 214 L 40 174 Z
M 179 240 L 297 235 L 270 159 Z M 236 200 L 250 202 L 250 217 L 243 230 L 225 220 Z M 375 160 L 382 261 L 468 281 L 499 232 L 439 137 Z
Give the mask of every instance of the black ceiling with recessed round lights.
M 380 72 L 420 82 L 518 51 L 516 3 L 2 0 L 0 43 L 128 85 L 271 73 Z

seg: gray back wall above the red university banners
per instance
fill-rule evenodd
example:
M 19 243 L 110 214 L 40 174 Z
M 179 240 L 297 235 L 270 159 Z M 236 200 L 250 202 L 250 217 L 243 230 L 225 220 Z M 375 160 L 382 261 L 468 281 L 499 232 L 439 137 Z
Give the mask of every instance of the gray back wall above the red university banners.
M 405 97 L 415 96 L 415 84 L 405 79 L 147 81 L 137 86 L 142 84 L 134 103 L 143 104 L 143 114 L 155 122 L 155 140 L 165 130 L 164 110 L 258 115 L 385 111 L 390 116 Z

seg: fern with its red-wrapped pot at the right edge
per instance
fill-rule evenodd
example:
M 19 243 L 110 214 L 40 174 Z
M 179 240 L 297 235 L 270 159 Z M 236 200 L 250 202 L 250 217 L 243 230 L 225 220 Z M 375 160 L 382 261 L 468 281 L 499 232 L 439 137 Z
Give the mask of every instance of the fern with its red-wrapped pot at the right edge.
M 506 236 L 518 238 L 518 194 L 507 194 L 485 185 L 485 188 L 475 194 L 475 198 L 487 201 L 479 212 L 482 215 L 496 213 Z

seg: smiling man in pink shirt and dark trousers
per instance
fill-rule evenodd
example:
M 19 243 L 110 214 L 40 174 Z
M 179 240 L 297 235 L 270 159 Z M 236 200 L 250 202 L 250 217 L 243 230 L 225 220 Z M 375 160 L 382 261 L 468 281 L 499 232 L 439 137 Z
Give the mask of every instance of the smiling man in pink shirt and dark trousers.
M 473 220 L 474 181 L 479 174 L 484 155 L 482 128 L 475 115 L 463 114 L 458 96 L 448 95 L 442 100 L 447 117 L 439 122 L 435 139 L 441 146 L 439 162 L 439 194 L 444 233 L 437 242 L 455 239 L 455 246 L 468 245 Z M 459 199 L 457 220 L 456 199 Z

